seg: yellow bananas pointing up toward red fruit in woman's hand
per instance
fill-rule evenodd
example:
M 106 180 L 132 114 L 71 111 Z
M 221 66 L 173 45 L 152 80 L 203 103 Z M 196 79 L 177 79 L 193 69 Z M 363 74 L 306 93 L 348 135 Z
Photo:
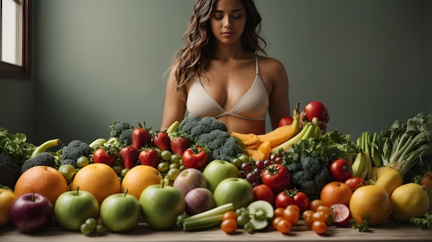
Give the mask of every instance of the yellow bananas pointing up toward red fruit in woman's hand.
M 294 119 L 293 123 L 296 120 Z M 300 119 L 297 120 L 297 122 L 300 123 Z M 298 125 L 298 124 L 297 124 Z M 301 141 L 302 139 L 309 139 L 313 137 L 320 137 L 321 135 L 321 129 L 320 126 L 318 126 L 318 119 L 313 118 L 311 122 L 306 121 L 304 123 L 303 128 L 298 132 L 295 136 L 291 137 L 291 139 L 288 139 L 284 143 L 281 143 L 280 145 L 277 145 L 275 148 L 271 149 L 271 152 L 277 152 L 279 149 L 283 149 L 284 151 L 288 150 L 291 145 Z

